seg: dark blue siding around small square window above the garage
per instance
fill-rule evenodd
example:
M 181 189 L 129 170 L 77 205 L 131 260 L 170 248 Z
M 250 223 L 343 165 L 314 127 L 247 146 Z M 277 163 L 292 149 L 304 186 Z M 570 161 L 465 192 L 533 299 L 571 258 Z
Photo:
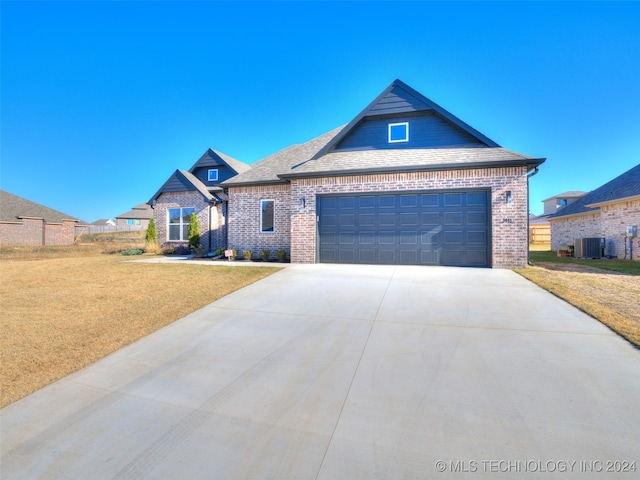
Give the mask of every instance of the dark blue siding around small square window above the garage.
M 390 123 L 409 123 L 409 141 L 388 142 Z M 439 115 L 397 115 L 365 118 L 342 141 L 336 150 L 438 148 L 443 146 L 485 146 L 464 130 Z

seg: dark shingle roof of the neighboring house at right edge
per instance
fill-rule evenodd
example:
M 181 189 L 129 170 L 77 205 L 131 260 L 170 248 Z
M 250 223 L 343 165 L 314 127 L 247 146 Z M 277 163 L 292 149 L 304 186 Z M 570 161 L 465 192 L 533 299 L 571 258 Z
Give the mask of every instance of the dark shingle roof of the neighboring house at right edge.
M 635 197 L 637 195 L 640 195 L 640 164 L 610 182 L 605 183 L 600 188 L 587 193 L 581 199 L 561 208 L 556 213 L 550 215 L 549 218 L 553 219 L 579 213 L 595 212 L 599 209 L 597 207 L 589 207 L 588 205 Z

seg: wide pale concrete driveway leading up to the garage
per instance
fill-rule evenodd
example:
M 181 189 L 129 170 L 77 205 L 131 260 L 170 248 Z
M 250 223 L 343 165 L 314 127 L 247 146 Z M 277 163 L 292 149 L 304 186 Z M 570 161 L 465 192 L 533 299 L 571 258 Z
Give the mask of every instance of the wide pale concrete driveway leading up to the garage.
M 511 271 L 293 265 L 3 409 L 1 476 L 630 479 L 639 405 L 640 351 Z

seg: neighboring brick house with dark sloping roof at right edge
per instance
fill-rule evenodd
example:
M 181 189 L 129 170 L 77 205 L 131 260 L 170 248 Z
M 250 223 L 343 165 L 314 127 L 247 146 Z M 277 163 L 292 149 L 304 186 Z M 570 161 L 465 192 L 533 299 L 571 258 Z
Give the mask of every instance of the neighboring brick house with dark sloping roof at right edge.
M 640 259 L 637 233 L 628 235 L 628 227 L 640 224 L 640 165 L 558 210 L 549 222 L 552 250 L 576 239 L 604 238 L 606 255 Z

